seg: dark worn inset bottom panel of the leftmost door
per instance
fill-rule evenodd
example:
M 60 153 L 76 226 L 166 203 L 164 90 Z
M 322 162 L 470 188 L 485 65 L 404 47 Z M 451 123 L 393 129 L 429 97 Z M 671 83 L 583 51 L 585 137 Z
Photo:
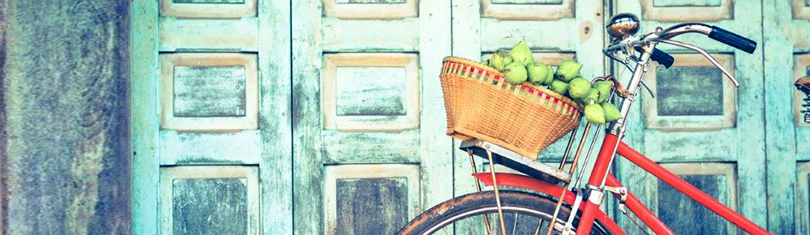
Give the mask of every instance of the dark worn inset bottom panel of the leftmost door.
M 178 178 L 173 182 L 173 235 L 245 234 L 245 178 Z

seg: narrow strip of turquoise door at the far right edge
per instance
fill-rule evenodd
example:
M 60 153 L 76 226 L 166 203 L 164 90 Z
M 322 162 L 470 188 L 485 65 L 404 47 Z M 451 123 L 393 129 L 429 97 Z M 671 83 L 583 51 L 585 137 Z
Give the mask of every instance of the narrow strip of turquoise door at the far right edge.
M 810 234 L 810 125 L 800 112 L 807 97 L 792 85 L 810 76 L 810 6 L 804 1 L 763 6 L 769 229 Z

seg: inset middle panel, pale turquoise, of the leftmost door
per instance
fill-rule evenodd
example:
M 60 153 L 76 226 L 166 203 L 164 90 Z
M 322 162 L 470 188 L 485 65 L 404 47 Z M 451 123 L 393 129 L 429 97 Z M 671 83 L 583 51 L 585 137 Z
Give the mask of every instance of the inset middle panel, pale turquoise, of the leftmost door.
M 175 66 L 174 115 L 245 115 L 245 66 Z

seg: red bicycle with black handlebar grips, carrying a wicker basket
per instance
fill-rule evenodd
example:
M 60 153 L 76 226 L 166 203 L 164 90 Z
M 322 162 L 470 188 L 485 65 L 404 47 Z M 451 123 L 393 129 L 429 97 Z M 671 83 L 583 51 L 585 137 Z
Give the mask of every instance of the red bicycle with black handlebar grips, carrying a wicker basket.
M 723 44 L 752 53 L 757 43 L 737 35 L 723 28 L 703 23 L 682 23 L 667 29 L 657 27 L 654 31 L 637 36 L 639 20 L 632 14 L 619 14 L 612 17 L 607 30 L 614 40 L 603 50 L 607 57 L 618 61 L 633 71 L 629 79 L 627 90 L 624 90 L 617 79 L 612 79 L 616 85 L 616 94 L 621 99 L 620 111 L 627 116 L 630 107 L 636 98 L 637 91 L 642 85 L 642 79 L 650 66 L 650 60 L 669 68 L 675 61 L 673 57 L 659 49 L 658 44 L 671 44 L 682 48 L 689 48 L 711 61 L 722 70 L 735 86 L 739 86 L 734 76 L 723 68 L 709 53 L 692 44 L 685 44 L 671 40 L 676 36 L 697 33 L 709 36 Z M 635 66 L 632 67 L 631 63 Z M 608 79 L 611 77 L 608 77 Z M 810 86 L 808 86 L 810 88 Z M 591 125 L 586 125 L 584 135 L 587 135 Z M 599 130 L 601 125 L 596 127 Z M 676 174 L 659 166 L 650 158 L 634 150 L 622 141 L 625 136 L 625 120 L 616 120 L 604 132 L 601 149 L 596 155 L 593 168 L 590 169 L 590 178 L 585 187 L 580 188 L 580 178 L 586 169 L 581 169 L 578 178 L 572 178 L 574 169 L 582 146 L 586 138 L 579 142 L 578 149 L 573 157 L 573 166 L 564 171 L 569 150 L 573 145 L 573 136 L 568 143 L 568 149 L 563 156 L 559 168 L 528 160 L 518 153 L 501 148 L 498 145 L 485 141 L 464 141 L 461 149 L 470 154 L 473 168 L 473 177 L 476 178 L 476 187 L 479 192 L 459 196 L 430 208 L 420 216 L 411 220 L 398 234 L 435 234 L 435 233 L 465 233 L 465 234 L 625 234 L 616 222 L 599 209 L 605 194 L 612 194 L 619 200 L 618 209 L 628 214 L 627 209 L 633 212 L 639 220 L 657 234 L 674 234 L 657 216 L 646 208 L 619 180 L 610 172 L 612 162 L 616 155 L 625 157 L 629 162 L 646 170 L 669 184 L 684 195 L 709 208 L 723 219 L 751 234 L 770 234 L 765 229 L 754 224 L 751 220 L 740 216 L 731 208 L 719 203 L 710 195 L 697 189 L 693 185 L 679 178 Z M 597 132 L 599 134 L 600 132 Z M 584 162 L 589 162 L 590 152 L 598 138 L 595 136 L 586 151 Z M 485 157 L 489 160 L 488 173 L 475 172 L 475 159 L 473 155 Z M 492 164 L 507 166 L 523 174 L 496 173 Z M 524 175 L 525 174 L 525 175 Z M 573 183 L 573 187 L 560 186 L 559 183 Z M 480 183 L 492 186 L 493 191 L 481 191 Z M 518 191 L 499 190 L 499 187 L 517 188 Z M 527 192 L 531 191 L 531 192 Z M 540 193 L 540 194 L 537 194 Z M 483 218 L 483 219 L 482 219 Z M 491 220 L 497 218 L 497 220 Z M 636 220 L 633 220 L 636 222 Z M 454 226 L 458 225 L 454 231 Z M 638 225 L 638 224 L 637 224 Z M 641 225 L 639 225 L 641 227 Z M 468 229 L 459 231 L 458 228 Z M 480 231 L 485 231 L 480 232 Z M 642 229 L 642 231 L 646 230 Z M 477 232 L 477 233 L 476 233 Z

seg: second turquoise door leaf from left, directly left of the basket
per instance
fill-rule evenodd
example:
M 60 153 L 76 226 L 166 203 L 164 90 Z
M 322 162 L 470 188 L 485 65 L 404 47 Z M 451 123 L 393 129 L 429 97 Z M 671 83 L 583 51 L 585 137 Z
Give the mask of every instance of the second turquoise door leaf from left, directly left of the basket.
M 296 233 L 392 234 L 450 199 L 450 1 L 294 1 L 292 15 Z

